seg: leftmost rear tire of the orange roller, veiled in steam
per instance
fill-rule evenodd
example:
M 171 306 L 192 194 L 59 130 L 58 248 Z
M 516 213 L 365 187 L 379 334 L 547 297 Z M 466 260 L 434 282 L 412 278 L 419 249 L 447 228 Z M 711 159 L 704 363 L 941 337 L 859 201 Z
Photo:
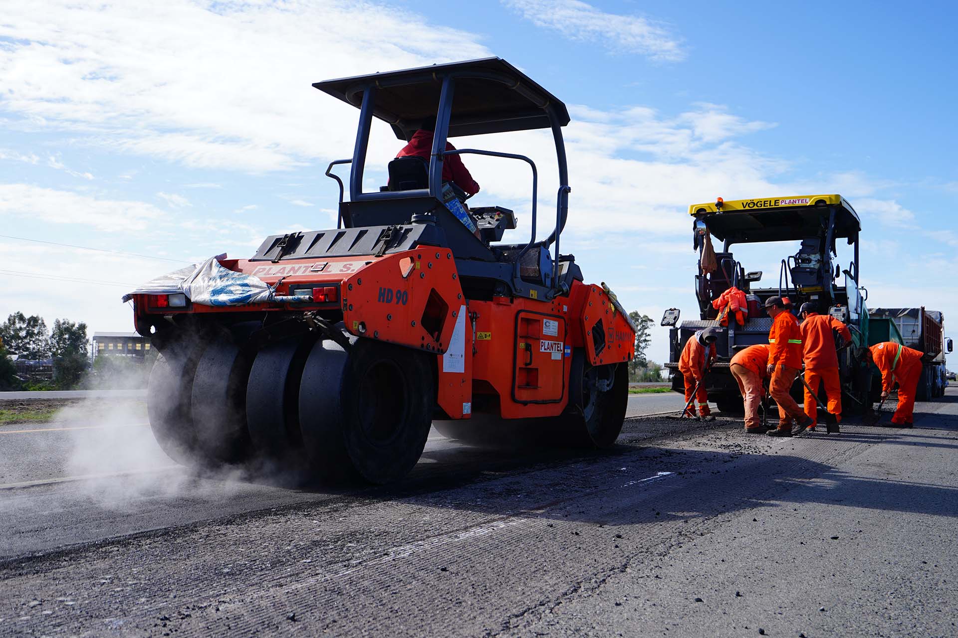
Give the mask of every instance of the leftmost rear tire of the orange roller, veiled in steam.
M 196 463 L 191 396 L 199 347 L 171 347 L 157 357 L 149 372 L 149 429 L 160 448 L 180 465 Z

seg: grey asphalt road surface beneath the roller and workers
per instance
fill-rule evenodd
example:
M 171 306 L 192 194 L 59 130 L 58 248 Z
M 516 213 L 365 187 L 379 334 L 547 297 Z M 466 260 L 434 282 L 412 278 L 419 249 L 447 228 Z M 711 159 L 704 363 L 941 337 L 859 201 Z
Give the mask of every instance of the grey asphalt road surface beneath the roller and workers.
M 0 428 L 0 635 L 951 636 L 956 431 L 949 388 L 915 429 L 839 436 L 434 432 L 399 486 L 331 490 L 196 476 L 142 422 L 77 410 Z

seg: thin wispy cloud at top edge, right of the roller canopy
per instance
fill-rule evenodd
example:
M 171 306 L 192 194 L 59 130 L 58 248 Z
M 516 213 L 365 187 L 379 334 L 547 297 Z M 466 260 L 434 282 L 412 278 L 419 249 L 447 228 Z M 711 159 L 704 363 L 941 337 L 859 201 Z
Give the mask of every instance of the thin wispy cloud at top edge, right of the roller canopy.
M 580 0 L 502 0 L 536 27 L 573 40 L 598 42 L 612 53 L 648 55 L 654 60 L 685 59 L 680 38 L 650 20 L 607 13 Z

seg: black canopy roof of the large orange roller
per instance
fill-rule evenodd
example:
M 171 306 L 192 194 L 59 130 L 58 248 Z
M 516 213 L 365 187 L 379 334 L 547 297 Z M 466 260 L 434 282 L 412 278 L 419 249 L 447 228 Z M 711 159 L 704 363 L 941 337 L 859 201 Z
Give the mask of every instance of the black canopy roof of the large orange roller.
M 549 128 L 547 108 L 557 123 L 569 123 L 559 99 L 499 57 L 433 64 L 404 71 L 344 77 L 314 87 L 359 107 L 363 91 L 376 87 L 374 114 L 408 140 L 423 120 L 435 118 L 443 78 L 455 77 L 448 137 Z

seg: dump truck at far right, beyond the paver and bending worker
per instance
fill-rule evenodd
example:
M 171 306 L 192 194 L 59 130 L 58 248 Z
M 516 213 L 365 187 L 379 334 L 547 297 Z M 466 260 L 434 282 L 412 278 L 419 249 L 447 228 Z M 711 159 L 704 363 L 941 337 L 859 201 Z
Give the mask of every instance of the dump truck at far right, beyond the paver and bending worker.
M 873 343 L 898 341 L 924 354 L 916 392 L 919 401 L 945 396 L 945 355 L 952 351 L 953 343 L 945 337 L 945 316 L 941 311 L 925 310 L 924 306 L 875 308 L 869 313 L 869 323 Z

